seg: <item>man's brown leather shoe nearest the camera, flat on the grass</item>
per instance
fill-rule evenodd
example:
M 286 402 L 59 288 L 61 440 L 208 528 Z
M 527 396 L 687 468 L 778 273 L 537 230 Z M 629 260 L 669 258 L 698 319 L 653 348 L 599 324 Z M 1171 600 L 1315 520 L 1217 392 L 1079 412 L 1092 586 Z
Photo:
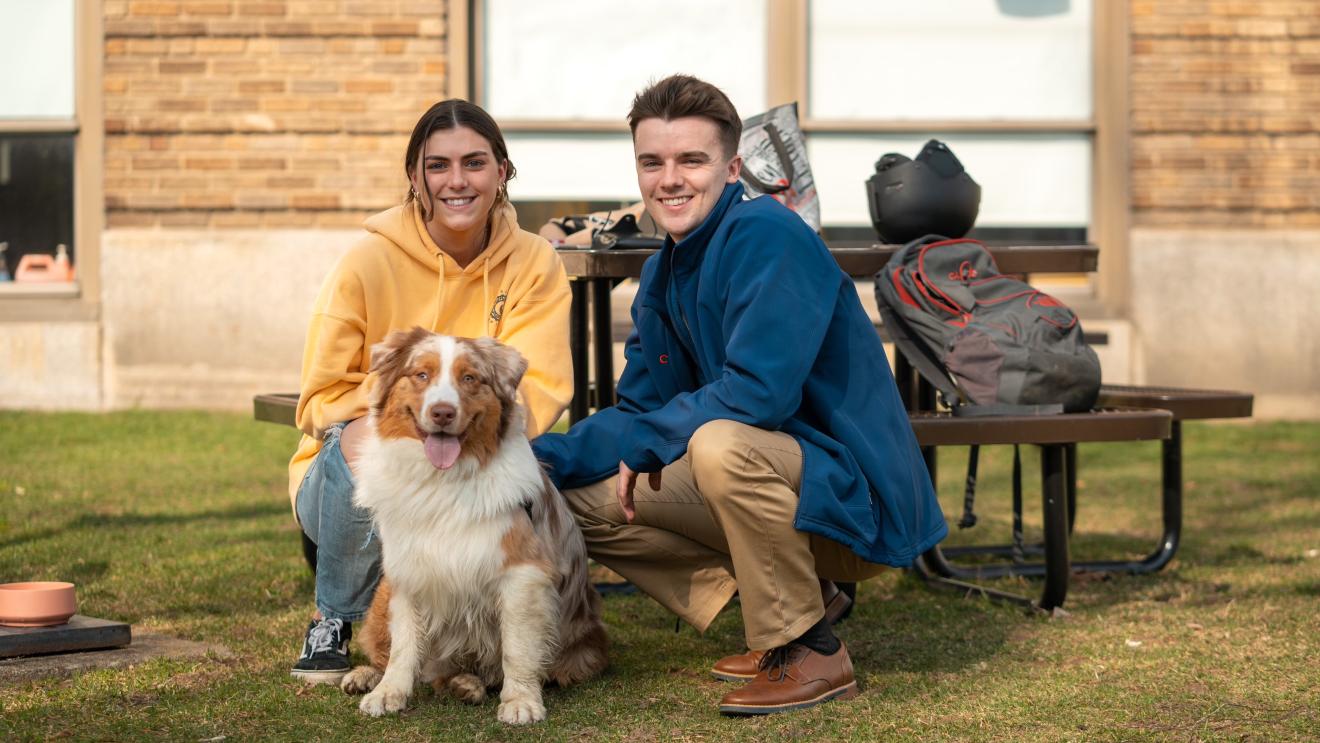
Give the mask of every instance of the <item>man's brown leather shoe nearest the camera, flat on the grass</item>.
M 832 656 L 791 643 L 766 655 L 762 669 L 746 686 L 719 699 L 723 714 L 771 714 L 800 710 L 859 693 L 847 647 Z

